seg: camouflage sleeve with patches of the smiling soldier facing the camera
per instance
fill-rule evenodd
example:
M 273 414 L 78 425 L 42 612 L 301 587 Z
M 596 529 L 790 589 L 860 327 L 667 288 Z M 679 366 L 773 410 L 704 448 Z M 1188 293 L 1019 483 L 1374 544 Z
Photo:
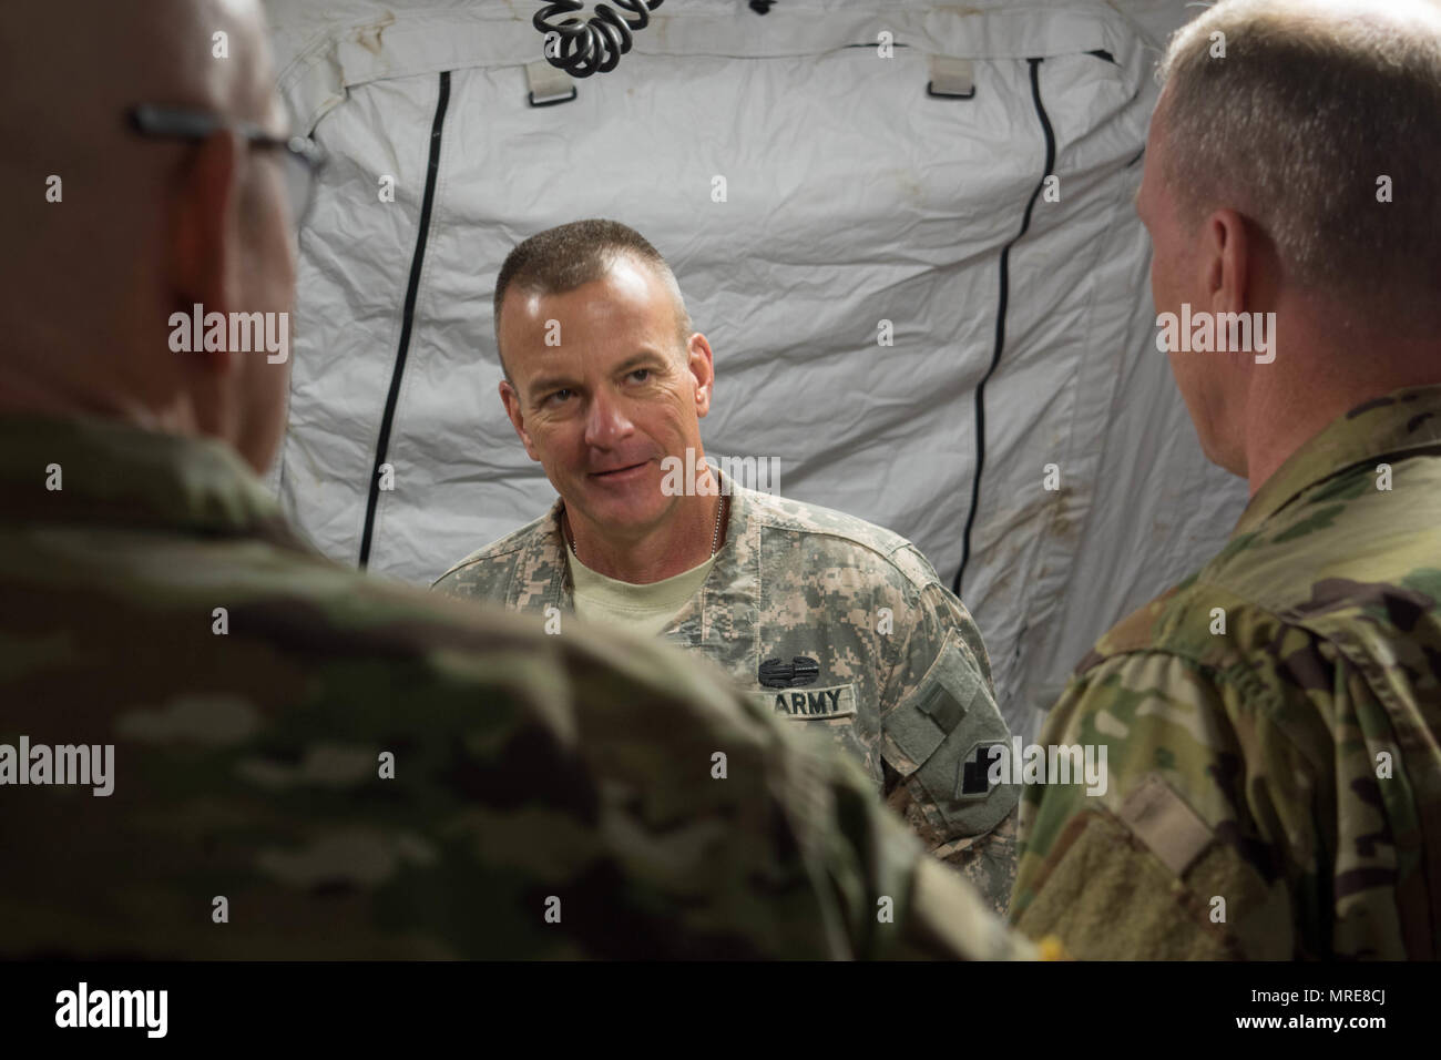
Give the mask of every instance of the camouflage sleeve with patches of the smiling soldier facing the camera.
M 997 913 L 1016 874 L 1019 787 L 991 780 L 989 748 L 1010 738 L 990 659 L 965 606 L 912 547 L 893 557 L 921 586 L 899 662 L 883 692 L 888 795 L 927 848 Z

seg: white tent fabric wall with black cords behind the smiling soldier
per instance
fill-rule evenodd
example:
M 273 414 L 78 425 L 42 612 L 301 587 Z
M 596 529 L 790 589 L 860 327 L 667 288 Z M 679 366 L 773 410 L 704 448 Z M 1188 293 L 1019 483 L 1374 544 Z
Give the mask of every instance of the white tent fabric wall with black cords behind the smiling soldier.
M 272 477 L 293 518 L 428 583 L 539 515 L 553 490 L 496 394 L 496 274 L 535 232 L 614 218 L 715 349 L 709 454 L 775 457 L 781 493 L 904 534 L 948 583 L 977 496 L 961 596 L 1033 737 L 1245 500 L 1154 346 L 1131 205 L 1154 46 L 1101 3 L 670 0 L 618 69 L 532 107 L 536 7 L 271 6 L 282 92 L 331 156 Z M 928 97 L 931 56 L 970 59 L 974 97 Z

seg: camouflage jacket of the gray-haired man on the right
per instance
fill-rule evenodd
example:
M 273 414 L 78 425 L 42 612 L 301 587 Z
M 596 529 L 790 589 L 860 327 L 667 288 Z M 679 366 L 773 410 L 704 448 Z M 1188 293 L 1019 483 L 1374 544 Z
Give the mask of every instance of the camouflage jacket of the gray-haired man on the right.
M 1435 958 L 1438 740 L 1441 388 L 1418 388 L 1303 446 L 1081 663 L 1042 743 L 1107 744 L 1110 787 L 1026 790 L 1013 917 L 1076 958 Z

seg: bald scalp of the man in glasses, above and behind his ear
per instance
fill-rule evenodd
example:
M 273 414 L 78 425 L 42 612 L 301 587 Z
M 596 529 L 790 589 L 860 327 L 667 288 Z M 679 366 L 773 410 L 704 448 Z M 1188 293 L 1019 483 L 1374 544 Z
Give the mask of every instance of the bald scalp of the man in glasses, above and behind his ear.
M 229 58 L 216 56 L 225 33 Z M 104 342 L 154 291 L 187 144 L 135 136 L 135 104 L 272 125 L 259 0 L 65 0 L 0 20 L 0 323 L 14 349 Z M 58 179 L 58 180 L 56 180 Z M 58 198 L 58 200 L 55 200 Z

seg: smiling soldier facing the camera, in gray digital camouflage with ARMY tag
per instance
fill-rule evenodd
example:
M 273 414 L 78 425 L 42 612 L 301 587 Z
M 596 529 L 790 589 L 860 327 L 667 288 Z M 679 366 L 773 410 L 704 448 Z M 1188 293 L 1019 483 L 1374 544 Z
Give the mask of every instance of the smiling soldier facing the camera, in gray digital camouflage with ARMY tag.
M 989 777 L 1010 733 L 976 623 L 905 538 L 706 463 L 710 346 L 656 248 L 614 221 L 526 239 L 496 283 L 496 337 L 506 412 L 561 498 L 435 587 L 719 665 L 765 711 L 829 730 L 1004 911 L 1019 790 Z

